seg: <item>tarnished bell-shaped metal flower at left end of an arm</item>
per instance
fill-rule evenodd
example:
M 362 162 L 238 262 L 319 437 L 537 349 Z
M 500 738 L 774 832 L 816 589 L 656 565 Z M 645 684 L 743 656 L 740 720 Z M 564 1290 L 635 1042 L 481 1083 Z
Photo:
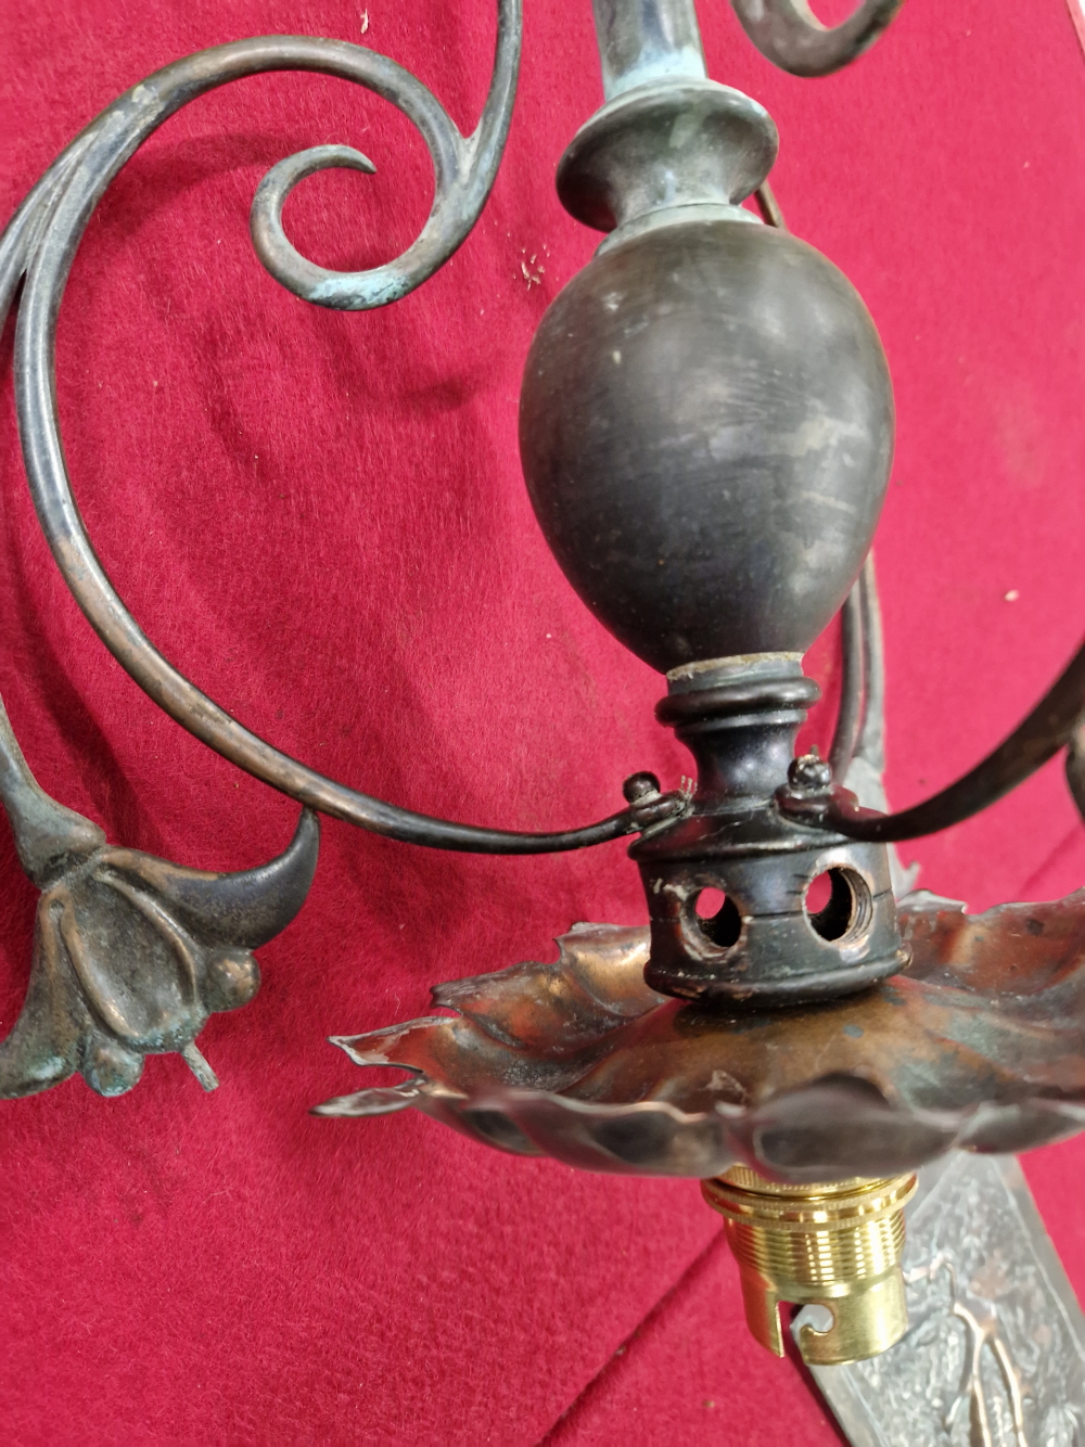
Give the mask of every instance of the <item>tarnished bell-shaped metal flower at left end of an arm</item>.
M 148 1055 L 178 1051 L 204 1090 L 195 1046 L 216 1010 L 256 994 L 252 951 L 305 903 L 320 826 L 305 810 L 289 848 L 256 870 L 208 874 L 113 848 L 30 773 L 0 703 L 0 799 L 41 888 L 23 1009 L 0 1043 L 0 1098 L 80 1071 L 100 1095 L 130 1090 Z

